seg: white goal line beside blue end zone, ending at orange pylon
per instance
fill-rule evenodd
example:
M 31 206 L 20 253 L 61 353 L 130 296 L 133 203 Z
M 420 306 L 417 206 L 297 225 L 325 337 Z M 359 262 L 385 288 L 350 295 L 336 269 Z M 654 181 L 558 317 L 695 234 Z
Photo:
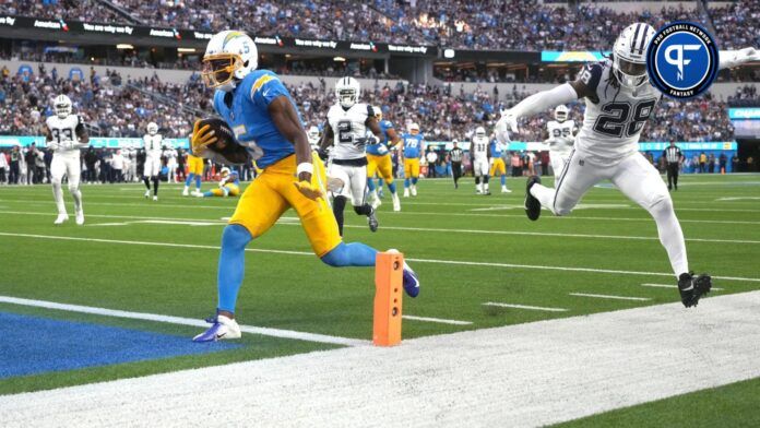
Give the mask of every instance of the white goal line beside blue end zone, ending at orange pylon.
M 169 323 L 169 324 L 209 328 L 209 324 L 204 320 L 195 320 L 192 318 L 181 318 L 181 317 L 171 317 L 171 316 L 162 316 L 162 314 L 156 314 L 156 313 L 130 312 L 130 311 L 124 311 L 124 310 L 94 308 L 94 307 L 81 306 L 81 305 L 58 304 L 55 301 L 46 301 L 46 300 L 24 299 L 24 298 L 19 298 L 19 297 L 11 297 L 11 296 L 0 296 L 0 302 L 21 305 L 21 306 L 32 306 L 35 308 L 57 309 L 57 310 L 64 310 L 64 311 L 69 311 L 69 312 L 93 313 L 93 314 L 104 316 L 104 317 L 128 318 L 128 319 L 132 319 L 132 320 L 145 320 L 145 321 L 165 322 L 165 323 Z M 281 337 L 281 338 L 292 338 L 292 340 L 296 340 L 296 341 L 319 342 L 319 343 L 329 343 L 329 344 L 333 344 L 333 345 L 345 345 L 345 346 L 369 345 L 368 341 L 360 341 L 360 340 L 356 340 L 356 338 L 339 337 L 339 336 L 331 336 L 331 335 L 326 335 L 326 334 L 317 334 L 317 333 L 304 333 L 304 332 L 297 332 L 297 331 L 293 331 L 293 330 L 271 329 L 271 328 L 266 328 L 266 326 L 240 325 L 240 330 L 246 332 L 246 333 L 260 334 L 263 336 Z

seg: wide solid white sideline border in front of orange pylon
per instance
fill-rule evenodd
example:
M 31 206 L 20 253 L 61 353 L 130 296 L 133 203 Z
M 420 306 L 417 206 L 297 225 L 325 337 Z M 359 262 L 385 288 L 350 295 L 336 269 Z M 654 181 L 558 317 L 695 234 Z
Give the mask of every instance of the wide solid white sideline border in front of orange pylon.
M 7 395 L 0 415 L 24 427 L 546 426 L 760 377 L 758 323 L 753 292 Z

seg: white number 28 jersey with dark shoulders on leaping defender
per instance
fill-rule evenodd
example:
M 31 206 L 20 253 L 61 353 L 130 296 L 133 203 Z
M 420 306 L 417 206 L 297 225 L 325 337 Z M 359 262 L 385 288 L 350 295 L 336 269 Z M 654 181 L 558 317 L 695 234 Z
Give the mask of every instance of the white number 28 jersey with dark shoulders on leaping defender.
M 639 151 L 639 136 L 662 93 L 649 82 L 629 90 L 611 73 L 613 62 L 605 60 L 585 66 L 579 74 L 594 95 L 585 98 L 575 147 L 591 157 L 620 159 Z

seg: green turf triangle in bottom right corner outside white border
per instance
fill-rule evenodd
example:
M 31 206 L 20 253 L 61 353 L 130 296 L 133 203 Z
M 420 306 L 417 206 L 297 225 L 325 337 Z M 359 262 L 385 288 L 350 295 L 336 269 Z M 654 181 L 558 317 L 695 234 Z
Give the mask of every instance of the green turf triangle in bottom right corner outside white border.
M 572 420 L 556 427 L 758 427 L 760 378 Z

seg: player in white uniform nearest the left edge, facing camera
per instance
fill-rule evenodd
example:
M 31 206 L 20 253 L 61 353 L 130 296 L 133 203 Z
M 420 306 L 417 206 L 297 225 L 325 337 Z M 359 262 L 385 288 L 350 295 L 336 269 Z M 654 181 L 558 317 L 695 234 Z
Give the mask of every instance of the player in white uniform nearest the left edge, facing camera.
M 52 102 L 54 116 L 46 120 L 47 146 L 52 151 L 50 162 L 50 181 L 52 182 L 52 197 L 58 206 L 58 218 L 54 224 L 60 225 L 69 219 L 63 203 L 61 181 L 63 175 L 69 179 L 69 192 L 74 198 L 74 215 L 78 225 L 84 224 L 84 209 L 82 206 L 82 191 L 79 188 L 81 165 L 80 147 L 90 142 L 87 130 L 84 129 L 82 119 L 71 114 L 71 99 L 66 95 L 59 95 Z

